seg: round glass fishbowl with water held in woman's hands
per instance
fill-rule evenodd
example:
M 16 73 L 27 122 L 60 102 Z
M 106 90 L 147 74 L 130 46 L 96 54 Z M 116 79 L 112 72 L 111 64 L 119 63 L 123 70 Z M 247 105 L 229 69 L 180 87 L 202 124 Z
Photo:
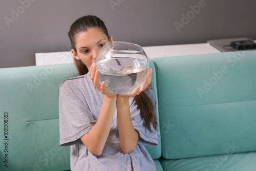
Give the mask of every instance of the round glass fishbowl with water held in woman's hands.
M 146 53 L 139 45 L 124 41 L 108 42 L 98 53 L 99 81 L 116 94 L 128 94 L 141 86 L 148 74 Z

